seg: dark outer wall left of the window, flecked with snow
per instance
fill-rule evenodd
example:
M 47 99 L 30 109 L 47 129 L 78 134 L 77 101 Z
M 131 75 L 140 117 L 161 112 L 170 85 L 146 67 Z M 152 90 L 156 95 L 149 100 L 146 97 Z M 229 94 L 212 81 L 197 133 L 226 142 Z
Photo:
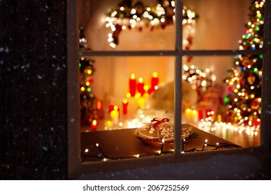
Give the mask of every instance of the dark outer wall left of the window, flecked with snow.
M 66 1 L 0 1 L 0 179 L 67 179 Z

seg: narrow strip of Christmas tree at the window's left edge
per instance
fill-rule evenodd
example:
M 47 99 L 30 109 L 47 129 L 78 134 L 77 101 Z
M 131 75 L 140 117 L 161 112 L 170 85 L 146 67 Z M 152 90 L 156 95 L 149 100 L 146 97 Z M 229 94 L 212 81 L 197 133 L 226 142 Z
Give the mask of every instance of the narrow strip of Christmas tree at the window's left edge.
M 86 44 L 87 40 L 83 33 L 83 27 L 79 28 L 79 49 L 81 51 L 90 50 Z M 81 124 L 97 122 L 97 98 L 92 94 L 93 74 L 95 73 L 94 60 L 80 58 L 80 110 Z

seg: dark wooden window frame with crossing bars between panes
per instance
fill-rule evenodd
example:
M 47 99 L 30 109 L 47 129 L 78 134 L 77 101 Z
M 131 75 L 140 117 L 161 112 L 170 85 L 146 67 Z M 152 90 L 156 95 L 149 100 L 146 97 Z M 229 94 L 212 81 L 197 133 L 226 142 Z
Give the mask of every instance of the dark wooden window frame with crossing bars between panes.
M 271 42 L 270 28 L 270 0 L 265 0 L 265 26 L 264 42 Z M 216 150 L 215 152 L 198 152 L 181 155 L 181 140 L 176 138 L 181 135 L 181 109 L 174 110 L 175 121 L 175 139 L 174 155 L 161 155 L 159 157 L 142 157 L 138 159 L 122 159 L 118 161 L 98 161 L 85 162 L 81 164 L 80 159 L 80 119 L 79 119 L 79 57 L 98 57 L 98 56 L 172 56 L 175 57 L 175 86 L 174 86 L 174 107 L 181 107 L 181 67 L 182 58 L 186 55 L 192 56 L 222 56 L 237 54 L 263 54 L 263 78 L 268 78 L 271 69 L 271 44 L 263 44 L 262 50 L 190 50 L 185 51 L 182 48 L 182 8 L 183 1 L 176 0 L 176 37 L 174 51 L 79 51 L 78 43 L 78 2 L 67 1 L 67 85 L 68 85 L 68 177 L 74 179 L 81 173 L 109 172 L 111 170 L 124 170 L 129 168 L 140 168 L 154 166 L 165 163 L 179 163 L 183 161 L 199 162 L 215 154 L 224 155 L 270 155 L 271 145 L 271 96 L 268 90 L 271 89 L 271 79 L 263 79 L 262 89 L 262 110 L 261 110 L 261 145 L 252 148 L 238 148 L 229 150 Z M 270 103 L 269 103 L 270 102 Z M 149 162 L 151 161 L 151 162 Z M 116 165 L 119 164 L 119 165 Z M 124 167 L 125 166 L 125 167 Z

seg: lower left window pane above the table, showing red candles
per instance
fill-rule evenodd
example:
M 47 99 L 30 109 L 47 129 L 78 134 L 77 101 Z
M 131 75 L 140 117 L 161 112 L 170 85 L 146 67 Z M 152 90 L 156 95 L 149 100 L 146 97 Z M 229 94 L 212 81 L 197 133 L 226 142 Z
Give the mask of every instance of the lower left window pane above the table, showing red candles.
M 138 127 L 156 117 L 154 109 L 173 114 L 173 57 L 92 57 L 84 61 L 80 80 L 82 131 Z M 154 97 L 162 85 L 169 87 L 163 86 L 165 91 L 156 91 Z M 117 116 L 112 115 L 114 106 Z M 97 129 L 90 128 L 93 119 L 98 122 Z

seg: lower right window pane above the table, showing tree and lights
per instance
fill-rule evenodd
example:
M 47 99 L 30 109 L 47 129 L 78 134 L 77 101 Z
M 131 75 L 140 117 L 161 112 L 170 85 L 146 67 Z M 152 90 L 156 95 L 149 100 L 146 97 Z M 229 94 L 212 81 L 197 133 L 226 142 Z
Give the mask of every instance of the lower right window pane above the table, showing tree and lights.
M 189 63 L 183 58 L 183 80 L 192 84 L 198 97 L 198 120 L 185 110 L 184 122 L 237 145 L 259 145 L 262 58 L 194 57 Z

